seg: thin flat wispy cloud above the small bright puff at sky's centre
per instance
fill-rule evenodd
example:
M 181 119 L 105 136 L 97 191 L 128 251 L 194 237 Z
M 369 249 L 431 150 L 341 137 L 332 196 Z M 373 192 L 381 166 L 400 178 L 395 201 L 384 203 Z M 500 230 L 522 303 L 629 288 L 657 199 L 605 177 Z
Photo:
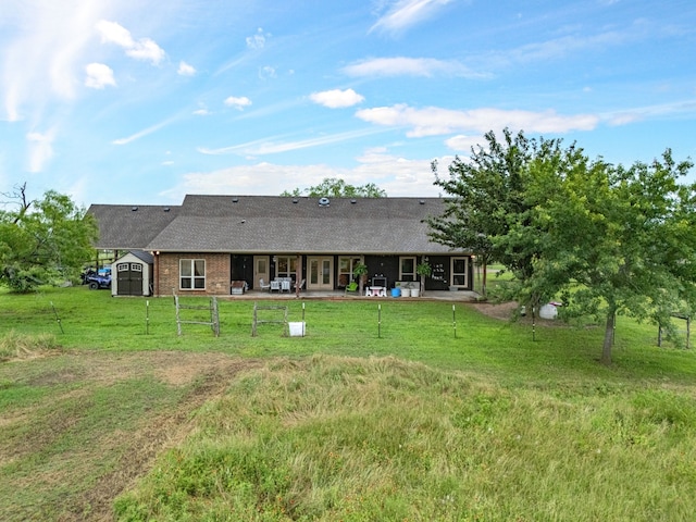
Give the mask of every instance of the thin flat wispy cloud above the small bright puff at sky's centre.
M 375 58 L 347 65 L 343 72 L 349 76 L 459 76 L 487 78 L 489 74 L 476 73 L 456 60 L 432 58 Z

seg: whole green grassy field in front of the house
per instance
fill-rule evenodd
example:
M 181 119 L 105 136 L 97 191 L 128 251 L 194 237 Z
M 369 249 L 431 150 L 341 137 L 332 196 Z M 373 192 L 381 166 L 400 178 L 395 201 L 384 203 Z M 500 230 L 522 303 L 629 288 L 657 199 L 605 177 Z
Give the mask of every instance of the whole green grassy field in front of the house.
M 592 324 L 533 335 L 489 304 L 284 304 L 306 337 L 251 337 L 250 300 L 220 301 L 214 337 L 176 335 L 172 298 L 0 294 L 0 520 L 696 512 L 696 359 L 657 348 L 654 326 L 620 318 L 605 368 Z

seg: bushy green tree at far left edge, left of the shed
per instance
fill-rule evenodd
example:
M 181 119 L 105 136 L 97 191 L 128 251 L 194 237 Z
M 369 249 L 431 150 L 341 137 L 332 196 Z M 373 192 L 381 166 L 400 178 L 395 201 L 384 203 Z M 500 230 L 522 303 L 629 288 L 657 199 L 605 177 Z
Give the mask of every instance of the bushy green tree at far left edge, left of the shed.
M 94 253 L 97 224 L 69 196 L 30 200 L 26 184 L 4 194 L 0 210 L 0 284 L 13 291 L 75 279 Z

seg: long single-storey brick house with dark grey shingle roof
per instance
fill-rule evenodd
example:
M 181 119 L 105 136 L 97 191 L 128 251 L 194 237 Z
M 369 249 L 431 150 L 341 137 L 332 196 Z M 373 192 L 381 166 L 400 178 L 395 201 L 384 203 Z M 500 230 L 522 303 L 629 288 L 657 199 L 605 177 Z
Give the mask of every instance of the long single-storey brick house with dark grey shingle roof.
M 181 207 L 92 204 L 98 249 L 139 249 L 153 256 L 153 294 L 231 294 L 261 289 L 275 278 L 304 281 L 304 289 L 337 290 L 368 266 L 365 285 L 418 282 L 425 289 L 472 289 L 468 252 L 428 239 L 424 220 L 439 215 L 439 198 L 307 198 L 186 196 Z M 236 284 L 235 284 L 236 282 Z

